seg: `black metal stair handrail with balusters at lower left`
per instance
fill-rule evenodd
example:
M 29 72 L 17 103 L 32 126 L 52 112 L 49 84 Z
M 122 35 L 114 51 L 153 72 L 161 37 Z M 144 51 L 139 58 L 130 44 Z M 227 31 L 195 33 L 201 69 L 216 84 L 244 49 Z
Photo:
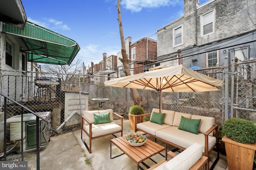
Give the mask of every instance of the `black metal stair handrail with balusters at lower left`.
M 12 102 L 12 104 L 21 107 L 21 139 L 22 139 L 22 144 L 21 144 L 21 160 L 24 160 L 24 146 L 23 146 L 23 140 L 24 140 L 24 134 L 23 134 L 23 130 L 24 130 L 24 126 L 23 126 L 23 114 L 24 114 L 24 110 L 28 111 L 28 113 L 32 113 L 33 115 L 36 116 L 36 169 L 39 170 L 40 169 L 40 140 L 39 140 L 39 135 L 40 135 L 40 127 L 39 127 L 39 119 L 42 119 L 43 121 L 46 121 L 47 123 L 49 123 L 46 119 L 44 119 L 43 117 L 40 117 L 40 115 L 38 115 L 37 113 L 34 113 L 33 111 L 31 111 L 30 109 L 28 109 L 27 107 L 25 107 L 24 105 L 18 103 L 17 101 L 11 99 L 10 97 L 0 93 L 1 99 L 2 97 L 4 97 L 4 160 L 7 160 L 7 100 L 8 102 Z M 1 158 L 2 159 L 2 158 Z

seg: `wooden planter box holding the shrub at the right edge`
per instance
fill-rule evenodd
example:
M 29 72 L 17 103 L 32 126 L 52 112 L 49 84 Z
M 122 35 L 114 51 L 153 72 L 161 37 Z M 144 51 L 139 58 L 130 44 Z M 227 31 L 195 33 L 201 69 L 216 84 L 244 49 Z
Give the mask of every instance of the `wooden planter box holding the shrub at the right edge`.
M 228 170 L 252 170 L 256 143 L 239 143 L 227 136 L 222 141 L 225 142 Z

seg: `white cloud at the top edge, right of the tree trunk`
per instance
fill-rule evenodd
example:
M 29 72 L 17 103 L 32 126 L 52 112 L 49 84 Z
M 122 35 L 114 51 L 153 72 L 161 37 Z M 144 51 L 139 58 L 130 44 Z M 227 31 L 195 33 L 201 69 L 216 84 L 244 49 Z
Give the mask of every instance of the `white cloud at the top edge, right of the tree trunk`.
M 121 5 L 132 12 L 140 12 L 142 8 L 159 8 L 160 6 L 175 6 L 183 0 L 122 0 Z

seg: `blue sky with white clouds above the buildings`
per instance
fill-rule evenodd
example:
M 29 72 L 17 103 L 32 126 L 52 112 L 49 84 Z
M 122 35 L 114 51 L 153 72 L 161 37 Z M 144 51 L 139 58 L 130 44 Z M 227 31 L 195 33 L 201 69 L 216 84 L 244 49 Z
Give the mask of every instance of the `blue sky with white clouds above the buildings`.
M 200 4 L 208 0 L 200 0 Z M 28 21 L 75 40 L 85 66 L 121 49 L 117 0 L 22 0 Z M 121 0 L 124 38 L 154 40 L 156 31 L 184 14 L 184 0 Z M 81 63 L 82 64 L 82 63 Z

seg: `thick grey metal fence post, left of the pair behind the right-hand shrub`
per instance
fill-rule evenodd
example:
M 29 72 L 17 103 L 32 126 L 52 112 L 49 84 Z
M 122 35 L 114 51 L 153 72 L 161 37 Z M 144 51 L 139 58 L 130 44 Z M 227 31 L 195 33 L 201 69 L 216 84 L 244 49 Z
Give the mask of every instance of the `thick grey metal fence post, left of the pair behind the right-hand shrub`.
M 228 120 L 228 56 L 225 57 L 225 81 L 224 81 L 224 112 L 225 112 L 225 121 Z

